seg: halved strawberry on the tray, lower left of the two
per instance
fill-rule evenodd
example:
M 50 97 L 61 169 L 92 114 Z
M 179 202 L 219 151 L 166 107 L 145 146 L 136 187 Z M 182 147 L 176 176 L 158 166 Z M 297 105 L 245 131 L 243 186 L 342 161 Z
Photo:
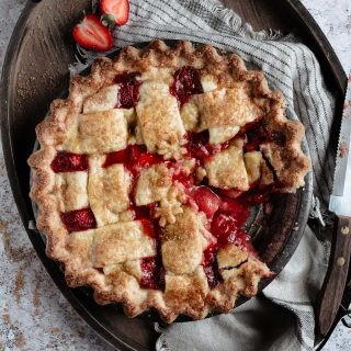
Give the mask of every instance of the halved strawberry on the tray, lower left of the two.
M 73 38 L 82 47 L 107 52 L 112 47 L 112 34 L 94 14 L 88 14 L 73 29 Z

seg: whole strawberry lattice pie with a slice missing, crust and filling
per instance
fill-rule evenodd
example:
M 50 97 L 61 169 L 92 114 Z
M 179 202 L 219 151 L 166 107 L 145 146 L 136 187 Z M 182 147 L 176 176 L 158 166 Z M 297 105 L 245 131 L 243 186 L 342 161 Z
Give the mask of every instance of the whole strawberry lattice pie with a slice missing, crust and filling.
M 161 41 L 98 59 L 52 104 L 29 159 L 47 254 L 70 286 L 134 317 L 229 312 L 272 273 L 250 208 L 295 192 L 304 127 L 260 71 L 210 45 Z

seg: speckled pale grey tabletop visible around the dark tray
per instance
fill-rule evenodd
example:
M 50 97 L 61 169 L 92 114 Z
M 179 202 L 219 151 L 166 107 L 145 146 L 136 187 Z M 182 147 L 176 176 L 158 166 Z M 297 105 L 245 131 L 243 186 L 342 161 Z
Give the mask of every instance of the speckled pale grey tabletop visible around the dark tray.
M 0 0 L 0 67 L 25 0 Z M 303 0 L 351 70 L 351 0 Z M 63 298 L 22 227 L 0 147 L 0 351 L 111 350 Z M 351 329 L 339 326 L 325 348 L 351 350 Z

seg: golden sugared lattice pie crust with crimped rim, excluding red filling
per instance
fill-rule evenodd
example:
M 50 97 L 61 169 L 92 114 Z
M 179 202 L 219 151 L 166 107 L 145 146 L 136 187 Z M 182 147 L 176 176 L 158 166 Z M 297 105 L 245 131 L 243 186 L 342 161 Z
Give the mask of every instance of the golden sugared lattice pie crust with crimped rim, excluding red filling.
M 174 71 L 183 66 L 199 69 L 204 91 L 191 97 L 180 111 L 168 90 Z M 141 75 L 139 102 L 135 109 L 116 109 L 113 99 L 121 88 L 115 77 L 126 71 Z M 172 184 L 173 173 L 162 165 L 143 170 L 134 190 L 137 204 L 159 202 L 155 216 L 163 227 L 160 252 L 166 270 L 165 286 L 141 287 L 138 260 L 157 254 L 158 248 L 128 210 L 132 178 L 121 165 L 103 169 L 103 155 L 136 143 L 165 159 L 181 161 L 186 152 L 186 131 L 210 129 L 210 143 L 217 145 L 231 139 L 240 127 L 264 114 L 268 127 L 278 139 L 242 156 L 242 140 L 238 137 L 235 145 L 241 145 L 240 149 L 233 145 L 220 151 L 224 154 L 197 168 L 196 174 L 208 176 L 215 186 L 245 191 L 260 177 L 263 182 L 272 181 L 265 163 L 269 161 L 275 170 L 274 177 L 283 184 L 280 191 L 295 191 L 304 185 L 310 166 L 301 149 L 304 127 L 285 117 L 284 105 L 284 98 L 269 89 L 263 73 L 248 71 L 237 55 L 219 55 L 210 45 L 195 47 L 183 41 L 174 47 L 161 41 L 141 49 L 129 46 L 114 59 L 97 59 L 89 76 L 72 77 L 69 97 L 55 100 L 49 118 L 37 126 L 41 149 L 29 159 L 33 174 L 31 197 L 38 205 L 37 227 L 47 238 L 47 254 L 65 264 L 67 283 L 90 285 L 98 303 L 122 303 L 131 317 L 155 308 L 167 322 L 180 314 L 201 319 L 211 312 L 228 312 L 239 294 L 253 296 L 258 282 L 269 276 L 270 270 L 238 245 L 218 251 L 223 281 L 211 288 L 202 252 L 214 237 L 206 229 L 204 214 L 186 203 L 184 190 Z M 282 139 L 284 146 L 280 144 Z M 52 162 L 60 151 L 87 154 L 90 169 L 79 173 L 54 172 Z M 233 157 L 242 169 L 247 168 L 247 173 L 241 179 L 240 174 L 227 177 L 218 172 L 216 157 L 218 167 L 220 159 L 225 160 L 225 172 L 230 173 Z M 248 167 L 250 160 L 252 165 Z M 192 160 L 186 162 L 191 165 Z M 211 162 L 215 166 L 211 167 Z M 189 165 L 189 173 L 194 172 L 194 162 Z M 81 190 L 86 186 L 86 191 Z M 146 186 L 152 189 L 143 189 Z M 111 205 L 113 197 L 117 203 Z M 63 213 L 88 205 L 97 223 L 91 222 L 84 231 L 69 230 L 63 223 Z

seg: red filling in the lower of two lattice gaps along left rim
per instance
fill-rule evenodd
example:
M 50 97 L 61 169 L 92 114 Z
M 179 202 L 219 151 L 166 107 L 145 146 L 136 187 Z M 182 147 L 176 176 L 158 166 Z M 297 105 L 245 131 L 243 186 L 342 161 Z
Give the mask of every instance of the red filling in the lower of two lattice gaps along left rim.
M 90 208 L 65 212 L 60 217 L 69 233 L 97 228 L 97 220 Z

